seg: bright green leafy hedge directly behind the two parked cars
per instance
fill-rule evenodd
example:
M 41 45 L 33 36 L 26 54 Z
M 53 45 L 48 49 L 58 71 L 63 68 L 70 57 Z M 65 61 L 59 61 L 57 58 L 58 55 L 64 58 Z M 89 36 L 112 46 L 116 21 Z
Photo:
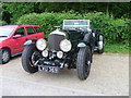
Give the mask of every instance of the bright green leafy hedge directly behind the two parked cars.
M 63 20 L 91 20 L 93 28 L 100 28 L 105 34 L 105 41 L 128 42 L 130 22 L 127 19 L 117 19 L 104 14 L 102 12 L 79 14 L 72 11 L 62 13 L 32 13 L 21 16 L 16 24 L 36 24 L 40 25 L 44 32 L 48 35 L 55 29 L 53 26 L 61 26 Z

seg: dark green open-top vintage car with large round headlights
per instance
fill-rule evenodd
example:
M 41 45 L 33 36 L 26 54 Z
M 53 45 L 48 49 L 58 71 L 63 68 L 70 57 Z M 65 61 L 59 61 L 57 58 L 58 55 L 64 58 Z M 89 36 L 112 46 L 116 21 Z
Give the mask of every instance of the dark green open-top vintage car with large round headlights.
M 48 40 L 41 38 L 25 42 L 23 69 L 28 73 L 58 73 L 63 69 L 76 69 L 79 78 L 86 79 L 94 51 L 104 52 L 103 33 L 91 29 L 90 20 L 63 20 L 62 29 L 56 27 L 48 35 Z

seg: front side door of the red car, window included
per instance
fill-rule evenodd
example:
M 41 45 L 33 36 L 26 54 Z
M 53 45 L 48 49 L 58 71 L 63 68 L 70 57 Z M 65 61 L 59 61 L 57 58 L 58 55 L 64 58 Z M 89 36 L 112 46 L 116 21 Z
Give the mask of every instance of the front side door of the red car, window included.
M 21 35 L 21 36 L 15 38 L 16 35 Z M 24 27 L 17 28 L 12 37 L 13 53 L 22 52 L 25 48 L 24 42 L 26 40 L 27 40 L 27 36 L 25 33 L 25 28 Z

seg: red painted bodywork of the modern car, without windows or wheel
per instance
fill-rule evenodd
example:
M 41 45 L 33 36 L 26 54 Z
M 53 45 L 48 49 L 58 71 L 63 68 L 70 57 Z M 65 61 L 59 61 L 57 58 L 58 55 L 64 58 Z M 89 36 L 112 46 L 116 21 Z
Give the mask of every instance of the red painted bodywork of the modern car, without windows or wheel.
M 21 53 L 25 48 L 24 46 L 25 41 L 29 39 L 45 38 L 44 32 L 37 33 L 37 30 L 35 29 L 37 27 L 40 28 L 40 26 L 38 25 L 5 25 L 2 27 L 15 27 L 9 37 L 0 38 L 0 49 L 2 48 L 10 49 L 11 56 Z M 27 32 L 28 27 L 33 28 L 35 33 L 32 35 L 28 35 L 28 32 Z M 17 38 L 14 38 L 14 34 L 19 28 L 24 28 L 25 36 L 20 36 Z

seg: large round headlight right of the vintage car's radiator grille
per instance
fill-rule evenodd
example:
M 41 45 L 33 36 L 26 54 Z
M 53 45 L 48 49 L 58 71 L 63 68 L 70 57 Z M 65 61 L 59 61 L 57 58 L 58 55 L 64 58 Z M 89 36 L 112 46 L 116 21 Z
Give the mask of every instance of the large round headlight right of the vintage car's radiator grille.
M 61 40 L 61 42 L 60 42 L 60 49 L 62 51 L 68 52 L 68 51 L 71 50 L 71 48 L 72 48 L 72 45 L 71 45 L 70 40 L 68 40 L 68 39 Z

